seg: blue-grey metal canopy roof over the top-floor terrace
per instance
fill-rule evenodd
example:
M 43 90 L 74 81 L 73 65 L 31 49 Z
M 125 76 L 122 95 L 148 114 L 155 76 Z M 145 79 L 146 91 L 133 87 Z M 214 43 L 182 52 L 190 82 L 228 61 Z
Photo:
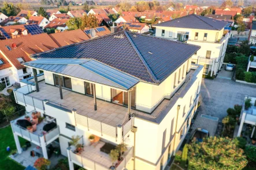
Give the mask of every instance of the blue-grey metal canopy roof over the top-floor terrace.
M 139 79 L 94 59 L 37 59 L 24 66 L 76 78 L 83 81 L 129 90 Z

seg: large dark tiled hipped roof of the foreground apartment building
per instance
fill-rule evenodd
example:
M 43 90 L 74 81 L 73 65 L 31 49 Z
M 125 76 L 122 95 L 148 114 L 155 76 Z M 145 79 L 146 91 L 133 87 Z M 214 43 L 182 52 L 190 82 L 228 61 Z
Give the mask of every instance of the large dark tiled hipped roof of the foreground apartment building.
M 122 31 L 32 57 L 91 58 L 140 80 L 159 84 L 199 48 L 178 41 Z

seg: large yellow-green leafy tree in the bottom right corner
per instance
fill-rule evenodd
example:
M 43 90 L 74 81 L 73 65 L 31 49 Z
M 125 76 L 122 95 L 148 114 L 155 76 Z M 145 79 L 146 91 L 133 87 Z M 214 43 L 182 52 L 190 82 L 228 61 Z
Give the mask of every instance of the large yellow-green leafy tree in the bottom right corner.
M 243 150 L 229 138 L 204 138 L 203 142 L 192 142 L 188 147 L 189 169 L 240 170 L 248 163 Z

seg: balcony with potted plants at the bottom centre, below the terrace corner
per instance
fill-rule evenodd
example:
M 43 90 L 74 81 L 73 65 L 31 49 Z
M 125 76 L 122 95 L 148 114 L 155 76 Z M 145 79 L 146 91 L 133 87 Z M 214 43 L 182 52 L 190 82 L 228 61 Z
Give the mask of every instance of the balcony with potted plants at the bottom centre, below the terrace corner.
M 69 148 L 68 152 L 71 161 L 86 169 L 109 170 L 112 166 L 110 156 L 109 154 L 101 151 L 102 146 L 105 144 L 106 143 L 103 141 L 92 143 L 90 146 L 84 146 L 81 153 L 75 153 L 71 148 Z M 122 155 L 123 159 L 114 163 L 116 170 L 125 168 L 125 165 L 127 165 L 128 161 L 131 160 L 132 155 L 133 147 L 130 147 Z

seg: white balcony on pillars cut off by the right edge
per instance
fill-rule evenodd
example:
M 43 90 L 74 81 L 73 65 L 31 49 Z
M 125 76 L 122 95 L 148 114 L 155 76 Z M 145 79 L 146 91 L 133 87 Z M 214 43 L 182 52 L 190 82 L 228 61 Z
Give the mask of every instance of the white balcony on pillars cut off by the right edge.
M 245 103 L 247 102 L 247 100 L 250 100 L 251 106 L 249 108 L 246 108 L 245 106 Z M 251 96 L 244 97 L 243 104 L 242 104 L 243 107 L 242 107 L 242 111 L 239 118 L 240 124 L 239 124 L 237 137 L 240 137 L 242 135 L 244 124 L 253 126 L 252 133 L 249 135 L 250 135 L 250 138 L 254 137 L 255 123 L 256 123 L 255 102 L 256 102 L 256 97 L 251 97 Z

